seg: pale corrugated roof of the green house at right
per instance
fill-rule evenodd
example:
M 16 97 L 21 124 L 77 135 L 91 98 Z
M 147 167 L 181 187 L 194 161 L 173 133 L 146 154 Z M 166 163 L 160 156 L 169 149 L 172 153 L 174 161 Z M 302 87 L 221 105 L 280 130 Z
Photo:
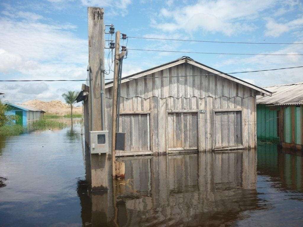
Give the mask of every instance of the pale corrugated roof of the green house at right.
M 303 82 L 264 87 L 271 91 L 271 97 L 257 96 L 257 104 L 301 105 L 303 104 Z

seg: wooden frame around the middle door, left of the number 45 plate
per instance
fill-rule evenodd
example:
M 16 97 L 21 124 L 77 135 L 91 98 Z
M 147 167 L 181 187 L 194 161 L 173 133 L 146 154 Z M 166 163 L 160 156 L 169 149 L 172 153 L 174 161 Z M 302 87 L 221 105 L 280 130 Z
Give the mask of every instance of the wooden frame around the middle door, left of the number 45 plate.
M 176 148 L 168 148 L 168 114 L 169 113 L 182 113 L 181 115 L 181 137 L 182 137 L 182 143 L 184 141 L 184 120 L 183 120 L 183 113 L 197 113 L 197 146 L 196 147 L 176 147 Z M 165 121 L 166 121 L 166 153 L 178 153 L 182 150 L 199 150 L 199 130 L 200 130 L 200 124 L 199 122 L 199 110 L 194 109 L 194 110 L 166 110 L 165 114 Z M 183 144 L 182 144 L 183 145 Z

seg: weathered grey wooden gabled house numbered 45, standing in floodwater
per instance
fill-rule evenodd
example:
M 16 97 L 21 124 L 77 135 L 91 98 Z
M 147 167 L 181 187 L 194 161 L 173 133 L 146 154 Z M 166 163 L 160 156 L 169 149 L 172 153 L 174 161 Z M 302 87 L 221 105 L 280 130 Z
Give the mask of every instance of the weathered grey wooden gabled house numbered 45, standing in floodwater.
M 119 131 L 126 146 L 116 156 L 255 148 L 256 95 L 265 94 L 189 57 L 124 77 Z M 110 135 L 112 82 L 105 104 Z

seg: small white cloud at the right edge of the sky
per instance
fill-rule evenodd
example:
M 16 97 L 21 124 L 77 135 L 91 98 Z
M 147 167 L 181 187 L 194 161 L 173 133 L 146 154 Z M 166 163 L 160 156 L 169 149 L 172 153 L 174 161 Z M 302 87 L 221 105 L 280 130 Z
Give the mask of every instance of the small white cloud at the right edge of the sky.
M 266 36 L 278 37 L 285 32 L 292 31 L 295 29 L 302 29 L 303 27 L 303 16 L 286 23 L 277 23 L 274 19 L 268 18 L 266 23 Z

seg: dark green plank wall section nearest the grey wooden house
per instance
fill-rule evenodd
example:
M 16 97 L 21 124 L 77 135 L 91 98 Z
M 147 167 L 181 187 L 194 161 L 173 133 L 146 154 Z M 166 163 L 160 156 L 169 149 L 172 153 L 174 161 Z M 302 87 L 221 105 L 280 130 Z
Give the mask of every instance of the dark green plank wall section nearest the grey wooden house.
M 261 140 L 275 140 L 277 132 L 277 110 L 269 110 L 264 104 L 257 105 L 257 137 Z

